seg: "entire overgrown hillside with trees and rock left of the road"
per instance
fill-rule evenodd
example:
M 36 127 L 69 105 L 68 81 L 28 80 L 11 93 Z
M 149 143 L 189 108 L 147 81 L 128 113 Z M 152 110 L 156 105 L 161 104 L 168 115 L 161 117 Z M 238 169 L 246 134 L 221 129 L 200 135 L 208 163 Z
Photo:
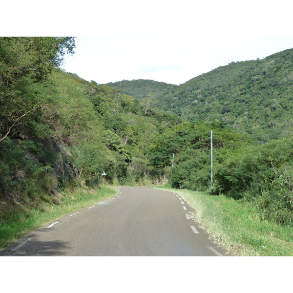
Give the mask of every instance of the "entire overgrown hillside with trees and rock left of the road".
M 1 211 L 59 191 L 166 180 L 144 149 L 180 118 L 58 68 L 74 38 L 0 39 Z

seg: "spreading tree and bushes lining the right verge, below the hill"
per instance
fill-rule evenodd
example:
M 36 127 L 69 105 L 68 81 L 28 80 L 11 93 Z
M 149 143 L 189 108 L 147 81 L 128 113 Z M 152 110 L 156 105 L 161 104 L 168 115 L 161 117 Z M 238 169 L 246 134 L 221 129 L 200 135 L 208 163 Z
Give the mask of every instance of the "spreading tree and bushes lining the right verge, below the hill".
M 213 129 L 214 193 L 252 202 L 263 218 L 293 224 L 293 143 L 257 145 L 219 123 L 184 123 L 160 135 L 148 149 L 150 164 L 174 167 L 173 188 L 210 188 L 210 129 Z

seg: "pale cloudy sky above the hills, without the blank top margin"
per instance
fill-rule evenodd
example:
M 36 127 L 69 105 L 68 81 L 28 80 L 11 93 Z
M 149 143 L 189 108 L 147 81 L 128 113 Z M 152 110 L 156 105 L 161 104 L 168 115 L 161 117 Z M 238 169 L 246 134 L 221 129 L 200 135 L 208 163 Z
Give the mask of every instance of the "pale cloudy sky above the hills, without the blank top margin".
M 293 48 L 293 37 L 79 37 L 62 68 L 98 84 L 149 79 L 183 84 L 230 62 Z

